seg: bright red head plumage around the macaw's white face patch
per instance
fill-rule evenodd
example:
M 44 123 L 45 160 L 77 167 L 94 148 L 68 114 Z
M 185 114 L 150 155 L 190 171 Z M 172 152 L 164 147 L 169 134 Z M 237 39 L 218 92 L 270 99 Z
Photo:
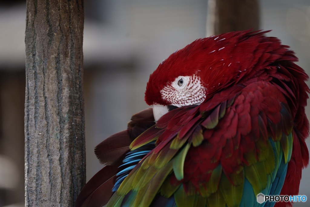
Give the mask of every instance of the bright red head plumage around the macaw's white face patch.
M 297 61 L 288 46 L 264 32 L 238 31 L 197 39 L 171 54 L 150 75 L 145 101 L 148 105 L 171 105 L 162 98 L 161 90 L 178 76 L 196 74 L 206 96 L 223 88 L 259 76 L 277 61 Z M 258 77 L 259 78 L 259 77 Z M 264 78 L 264 77 L 261 77 Z

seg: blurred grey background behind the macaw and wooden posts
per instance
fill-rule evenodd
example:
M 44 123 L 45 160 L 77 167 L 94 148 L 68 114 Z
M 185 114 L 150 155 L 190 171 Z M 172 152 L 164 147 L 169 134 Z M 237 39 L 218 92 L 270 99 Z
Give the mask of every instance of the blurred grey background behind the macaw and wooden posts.
M 310 1 L 261 0 L 260 29 L 290 45 L 310 74 Z M 206 35 L 207 0 L 86 0 L 84 99 L 86 179 L 102 168 L 93 149 L 148 107 L 149 74 Z M 0 0 L 0 207 L 24 206 L 25 1 Z M 310 108 L 307 108 L 310 117 Z M 307 141 L 310 146 L 310 141 Z M 300 195 L 310 204 L 310 168 Z

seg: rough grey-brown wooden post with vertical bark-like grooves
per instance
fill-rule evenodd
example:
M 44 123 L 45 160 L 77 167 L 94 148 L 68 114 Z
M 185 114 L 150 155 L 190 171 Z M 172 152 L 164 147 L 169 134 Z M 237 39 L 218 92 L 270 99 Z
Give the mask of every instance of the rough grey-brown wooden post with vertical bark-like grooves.
M 27 0 L 25 205 L 73 206 L 85 184 L 84 0 Z

